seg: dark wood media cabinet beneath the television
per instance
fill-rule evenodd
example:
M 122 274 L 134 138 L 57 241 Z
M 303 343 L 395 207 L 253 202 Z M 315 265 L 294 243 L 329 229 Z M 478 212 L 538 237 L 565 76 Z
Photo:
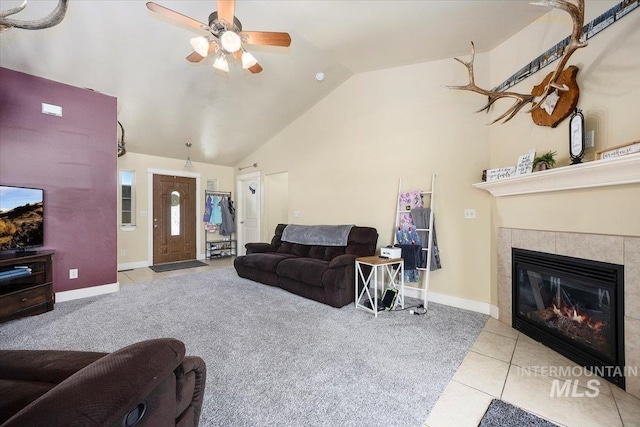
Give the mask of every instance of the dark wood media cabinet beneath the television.
M 0 322 L 53 310 L 53 254 L 0 255 Z

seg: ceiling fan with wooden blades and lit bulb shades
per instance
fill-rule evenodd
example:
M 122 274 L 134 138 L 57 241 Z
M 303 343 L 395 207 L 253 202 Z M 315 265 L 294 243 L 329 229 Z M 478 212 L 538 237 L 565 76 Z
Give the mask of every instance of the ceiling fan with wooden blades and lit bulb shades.
M 167 9 L 154 2 L 147 2 L 147 8 L 184 24 L 207 32 L 206 37 L 191 39 L 194 52 L 187 56 L 189 62 L 200 62 L 209 55 L 216 55 L 213 66 L 219 70 L 229 72 L 227 55 L 233 55 L 242 68 L 256 74 L 262 71 L 256 58 L 244 48 L 243 43 L 266 46 L 291 45 L 288 33 L 268 31 L 242 31 L 242 24 L 233 13 L 235 0 L 217 0 L 218 10 L 209 15 L 209 25 L 199 22 L 181 13 Z

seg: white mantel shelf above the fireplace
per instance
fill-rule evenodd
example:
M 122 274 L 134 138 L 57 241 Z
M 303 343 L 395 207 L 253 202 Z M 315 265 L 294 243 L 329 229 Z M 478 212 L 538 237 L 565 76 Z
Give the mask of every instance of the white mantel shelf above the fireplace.
M 473 186 L 499 197 L 635 183 L 640 183 L 640 153 L 480 182 Z

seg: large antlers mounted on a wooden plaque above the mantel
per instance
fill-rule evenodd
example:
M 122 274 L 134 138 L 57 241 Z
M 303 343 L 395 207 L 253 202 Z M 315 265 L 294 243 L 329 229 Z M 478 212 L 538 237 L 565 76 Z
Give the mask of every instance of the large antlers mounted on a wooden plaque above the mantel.
M 469 62 L 463 61 L 459 58 L 454 58 L 456 61 L 467 67 L 467 70 L 469 71 L 469 84 L 464 86 L 445 87 L 456 90 L 469 90 L 488 96 L 489 101 L 487 104 L 476 112 L 488 109 L 498 99 L 512 98 L 516 100 L 505 113 L 493 120 L 491 124 L 503 119 L 503 123 L 508 122 L 525 105 L 531 103 L 533 105 L 529 110 L 527 110 L 527 112 L 532 113 L 534 122 L 541 126 L 555 127 L 558 123 L 568 117 L 578 104 L 579 90 L 575 81 L 578 69 L 573 66 L 565 69 L 565 66 L 567 65 L 571 55 L 576 50 L 587 45 L 586 42 L 580 41 L 584 26 L 584 0 L 577 0 L 577 5 L 571 3 L 570 0 L 542 0 L 533 4 L 551 6 L 569 13 L 571 20 L 573 21 L 573 31 L 571 32 L 569 43 L 565 47 L 563 56 L 560 59 L 560 62 L 558 62 L 556 69 L 547 75 L 543 83 L 536 86 L 531 94 L 491 91 L 478 87 L 475 84 L 473 75 L 473 61 L 475 57 L 475 46 L 473 45 L 473 42 L 471 42 L 471 60 Z M 554 94 L 551 96 L 556 90 L 558 91 L 558 95 Z M 552 98 L 555 99 L 552 100 Z

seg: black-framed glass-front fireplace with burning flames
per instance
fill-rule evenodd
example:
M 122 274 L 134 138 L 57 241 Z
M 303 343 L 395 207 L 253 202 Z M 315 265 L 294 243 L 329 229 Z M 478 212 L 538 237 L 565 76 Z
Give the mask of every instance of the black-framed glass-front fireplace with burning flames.
M 625 388 L 624 267 L 512 248 L 513 327 Z

